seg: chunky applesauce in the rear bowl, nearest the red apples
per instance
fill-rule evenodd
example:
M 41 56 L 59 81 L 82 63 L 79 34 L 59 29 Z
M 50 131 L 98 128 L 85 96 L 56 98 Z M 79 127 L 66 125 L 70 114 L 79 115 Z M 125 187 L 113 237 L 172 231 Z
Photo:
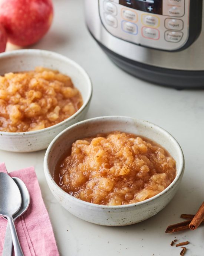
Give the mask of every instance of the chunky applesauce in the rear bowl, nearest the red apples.
M 82 104 L 71 78 L 59 71 L 36 67 L 0 76 L 0 131 L 50 127 L 73 115 Z

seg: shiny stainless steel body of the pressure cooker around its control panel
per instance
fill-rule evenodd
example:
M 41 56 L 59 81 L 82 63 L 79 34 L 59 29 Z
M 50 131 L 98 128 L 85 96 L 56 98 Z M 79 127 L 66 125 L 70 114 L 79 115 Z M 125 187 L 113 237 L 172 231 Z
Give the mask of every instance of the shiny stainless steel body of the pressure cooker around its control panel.
M 167 0 L 166 0 L 167 1 Z M 195 0 L 196 1 L 196 0 Z M 128 60 L 171 70 L 204 70 L 204 26 L 198 38 L 181 51 L 152 49 L 113 36 L 103 25 L 98 0 L 85 0 L 86 24 L 93 37 L 106 49 Z M 204 15 L 204 12 L 203 12 Z M 202 20 L 204 22 L 202 15 Z

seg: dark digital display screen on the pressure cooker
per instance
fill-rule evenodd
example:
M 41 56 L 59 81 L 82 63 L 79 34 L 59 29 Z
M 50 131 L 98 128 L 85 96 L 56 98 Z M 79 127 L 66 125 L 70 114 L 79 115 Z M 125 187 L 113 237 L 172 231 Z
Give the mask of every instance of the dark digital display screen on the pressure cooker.
M 162 15 L 162 0 L 119 0 L 119 4 L 142 12 Z

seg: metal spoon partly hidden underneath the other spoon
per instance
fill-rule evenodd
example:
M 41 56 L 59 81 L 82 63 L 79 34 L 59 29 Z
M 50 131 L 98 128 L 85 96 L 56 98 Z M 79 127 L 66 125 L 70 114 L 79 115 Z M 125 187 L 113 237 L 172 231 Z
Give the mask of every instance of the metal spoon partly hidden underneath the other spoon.
M 15 221 L 18 217 L 20 217 L 24 212 L 27 210 L 30 204 L 30 195 L 29 192 L 26 188 L 26 185 L 24 182 L 16 177 L 12 178 L 14 182 L 16 182 L 16 185 L 18 186 L 20 193 L 21 193 L 21 198 L 22 198 L 22 203 L 21 207 L 16 214 L 13 215 L 13 220 Z M 3 247 L 3 253 L 2 256 L 11 256 L 12 255 L 12 249 L 13 249 L 13 240 L 11 237 L 11 232 L 9 228 L 9 223 L 7 224 L 6 227 L 6 235 L 5 235 L 5 240 L 4 240 L 4 247 Z

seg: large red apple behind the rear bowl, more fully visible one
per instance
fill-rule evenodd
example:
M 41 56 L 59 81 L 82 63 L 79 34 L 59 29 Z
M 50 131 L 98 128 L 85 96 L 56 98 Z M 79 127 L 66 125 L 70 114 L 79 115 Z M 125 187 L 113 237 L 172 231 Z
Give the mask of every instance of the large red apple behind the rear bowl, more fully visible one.
M 0 23 L 8 41 L 27 46 L 39 41 L 53 19 L 52 0 L 1 0 Z

